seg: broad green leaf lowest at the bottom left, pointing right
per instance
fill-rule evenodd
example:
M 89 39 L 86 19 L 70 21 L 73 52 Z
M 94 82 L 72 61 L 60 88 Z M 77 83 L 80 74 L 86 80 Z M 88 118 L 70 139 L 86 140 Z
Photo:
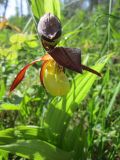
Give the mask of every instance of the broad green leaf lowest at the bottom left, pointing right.
M 39 160 L 70 160 L 70 153 L 41 140 L 26 140 L 9 145 L 1 145 L 1 149 L 19 156 Z

